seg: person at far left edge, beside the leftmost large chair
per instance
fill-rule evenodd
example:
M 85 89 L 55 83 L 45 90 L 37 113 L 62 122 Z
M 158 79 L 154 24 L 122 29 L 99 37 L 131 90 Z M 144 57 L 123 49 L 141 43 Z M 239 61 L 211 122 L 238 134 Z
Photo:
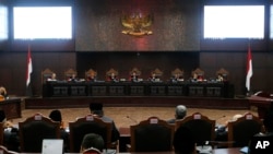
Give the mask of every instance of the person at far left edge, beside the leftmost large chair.
M 7 120 L 4 110 L 0 110 L 0 122 L 3 123 L 3 144 L 10 151 L 19 152 L 19 129 Z

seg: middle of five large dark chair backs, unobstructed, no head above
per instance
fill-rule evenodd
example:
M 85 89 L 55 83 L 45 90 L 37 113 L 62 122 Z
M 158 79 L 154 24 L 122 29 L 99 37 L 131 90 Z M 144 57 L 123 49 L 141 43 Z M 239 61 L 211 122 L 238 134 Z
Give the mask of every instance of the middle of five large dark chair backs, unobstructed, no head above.
M 131 152 L 164 152 L 173 150 L 175 126 L 151 117 L 130 127 Z

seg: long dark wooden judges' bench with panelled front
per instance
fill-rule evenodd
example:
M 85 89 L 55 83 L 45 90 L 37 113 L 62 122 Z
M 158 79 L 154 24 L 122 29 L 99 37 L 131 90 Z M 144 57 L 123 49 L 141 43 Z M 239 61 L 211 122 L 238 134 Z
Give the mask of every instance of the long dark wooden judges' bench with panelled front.
M 233 97 L 228 82 L 46 82 L 43 97 L 70 96 L 192 96 Z

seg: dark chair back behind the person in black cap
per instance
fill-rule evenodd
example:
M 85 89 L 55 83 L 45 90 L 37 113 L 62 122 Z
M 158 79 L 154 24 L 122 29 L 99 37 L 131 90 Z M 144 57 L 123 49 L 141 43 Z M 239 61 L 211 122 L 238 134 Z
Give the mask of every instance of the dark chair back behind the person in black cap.
M 111 147 L 111 123 L 105 122 L 100 118 L 87 115 L 69 122 L 70 152 L 79 153 L 81 143 L 85 134 L 96 133 L 103 137 L 105 147 Z

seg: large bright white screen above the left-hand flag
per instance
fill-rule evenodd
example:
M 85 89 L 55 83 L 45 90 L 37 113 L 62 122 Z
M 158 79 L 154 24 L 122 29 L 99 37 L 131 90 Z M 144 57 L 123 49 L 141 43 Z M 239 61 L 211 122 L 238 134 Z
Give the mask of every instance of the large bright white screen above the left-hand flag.
M 72 39 L 72 7 L 13 7 L 14 39 Z

